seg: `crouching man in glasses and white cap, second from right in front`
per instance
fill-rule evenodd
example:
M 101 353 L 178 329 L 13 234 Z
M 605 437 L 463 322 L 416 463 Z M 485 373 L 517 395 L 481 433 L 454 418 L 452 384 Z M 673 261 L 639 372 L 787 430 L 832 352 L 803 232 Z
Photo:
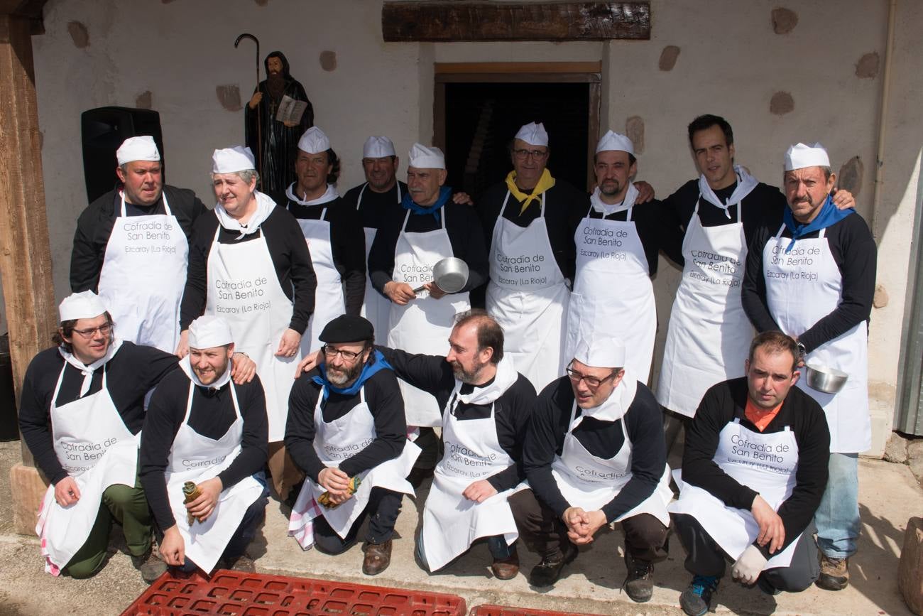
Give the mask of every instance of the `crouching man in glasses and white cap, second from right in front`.
M 523 538 L 542 561 L 532 586 L 551 586 L 578 546 L 604 525 L 625 530 L 625 588 L 634 601 L 653 594 L 653 563 L 666 558 L 669 468 L 660 407 L 622 368 L 624 344 L 581 340 L 567 376 L 539 394 L 522 458 L 532 490 L 509 499 Z

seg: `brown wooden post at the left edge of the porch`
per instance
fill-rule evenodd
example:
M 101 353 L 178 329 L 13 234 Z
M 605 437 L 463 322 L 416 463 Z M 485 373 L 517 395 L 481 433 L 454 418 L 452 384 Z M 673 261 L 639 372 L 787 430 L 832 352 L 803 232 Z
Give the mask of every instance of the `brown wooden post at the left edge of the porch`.
M 45 214 L 39 115 L 31 32 L 35 20 L 0 15 L 0 277 L 9 325 L 17 404 L 22 378 L 57 327 L 52 256 Z M 18 533 L 32 533 L 42 478 L 22 443 L 10 471 Z

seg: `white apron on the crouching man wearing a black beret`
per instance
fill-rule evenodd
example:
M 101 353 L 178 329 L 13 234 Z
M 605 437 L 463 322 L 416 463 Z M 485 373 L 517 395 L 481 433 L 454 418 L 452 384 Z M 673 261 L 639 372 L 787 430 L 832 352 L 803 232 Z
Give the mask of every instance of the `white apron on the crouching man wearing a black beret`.
M 375 417 L 372 417 L 372 412 L 366 403 L 365 387 L 359 389 L 359 404 L 350 409 L 346 415 L 330 423 L 324 421 L 323 412 L 320 409 L 323 399 L 323 392 L 321 392 L 318 395 L 318 404 L 314 408 L 314 425 L 317 428 L 314 434 L 314 451 L 318 453 L 318 458 L 325 466 L 339 467 L 343 460 L 353 457 L 355 453 L 361 452 L 372 441 L 375 441 Z M 353 497 L 333 509 L 317 504 L 318 498 L 327 489 L 307 478 L 292 508 L 289 535 L 298 537 L 298 542 L 302 544 L 302 547 L 313 544 L 313 525 L 309 523 L 319 514 L 324 516 L 337 535 L 345 538 L 356 519 L 366 509 L 372 488 L 390 489 L 413 496 L 414 487 L 410 485 L 406 477 L 414 468 L 418 455 L 420 455 L 420 448 L 413 442 L 406 441 L 398 457 L 360 473 L 358 475 L 361 479 L 359 488 L 356 489 Z M 309 530 L 310 537 L 303 539 L 301 536 L 305 534 L 306 529 Z

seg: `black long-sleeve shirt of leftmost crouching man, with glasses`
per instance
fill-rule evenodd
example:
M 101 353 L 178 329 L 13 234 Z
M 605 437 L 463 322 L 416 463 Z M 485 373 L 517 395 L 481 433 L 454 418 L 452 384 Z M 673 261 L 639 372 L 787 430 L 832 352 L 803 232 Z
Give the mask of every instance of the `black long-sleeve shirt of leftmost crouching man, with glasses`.
M 168 198 L 169 199 L 169 198 Z M 85 396 L 102 390 L 105 370 L 106 388 L 115 410 L 132 434 L 138 434 L 144 421 L 144 396 L 176 367 L 179 359 L 153 346 L 129 342 L 122 346 L 104 367 L 93 371 L 90 389 Z M 80 397 L 83 373 L 67 364 L 57 347 L 45 349 L 32 358 L 22 381 L 19 396 L 19 429 L 26 440 L 35 464 L 52 483 L 67 477 L 67 471 L 54 453 L 51 430 L 51 405 L 54 386 L 61 369 L 64 377 L 55 405 L 72 403 Z

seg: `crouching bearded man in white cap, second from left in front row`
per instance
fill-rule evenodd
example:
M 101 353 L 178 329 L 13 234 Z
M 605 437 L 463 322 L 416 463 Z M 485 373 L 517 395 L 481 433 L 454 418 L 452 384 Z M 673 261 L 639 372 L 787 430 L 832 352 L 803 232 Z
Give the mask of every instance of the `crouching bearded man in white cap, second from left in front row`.
M 189 354 L 150 399 L 140 478 L 167 564 L 252 573 L 246 547 L 266 516 L 269 421 L 260 380 L 231 380 L 231 326 L 211 315 L 188 329 Z M 199 494 L 186 502 L 187 483 Z

